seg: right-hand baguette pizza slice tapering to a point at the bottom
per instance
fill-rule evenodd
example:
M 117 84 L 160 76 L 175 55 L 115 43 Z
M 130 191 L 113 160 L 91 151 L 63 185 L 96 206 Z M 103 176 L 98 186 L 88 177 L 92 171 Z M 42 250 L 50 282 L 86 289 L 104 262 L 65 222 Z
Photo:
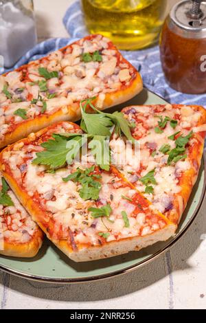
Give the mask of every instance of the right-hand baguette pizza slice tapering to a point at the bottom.
M 122 112 L 133 122 L 139 155 L 117 168 L 157 210 L 178 224 L 201 166 L 206 111 L 193 105 L 166 104 L 127 107 Z M 113 135 L 110 145 L 113 163 L 118 163 L 126 140 Z

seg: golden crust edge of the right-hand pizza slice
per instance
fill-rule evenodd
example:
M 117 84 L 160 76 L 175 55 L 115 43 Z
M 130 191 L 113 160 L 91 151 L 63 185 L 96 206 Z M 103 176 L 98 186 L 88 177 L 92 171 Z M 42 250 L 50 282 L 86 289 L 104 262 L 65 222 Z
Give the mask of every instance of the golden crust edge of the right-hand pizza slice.
M 192 189 L 194 187 L 194 184 L 196 183 L 196 179 L 198 177 L 198 172 L 201 167 L 201 158 L 203 156 L 203 148 L 204 148 L 204 139 L 205 139 L 205 133 L 206 133 L 206 111 L 203 107 L 197 106 L 197 105 L 190 105 L 190 106 L 185 106 L 183 104 L 168 104 L 168 105 L 163 105 L 163 104 L 158 104 L 158 105 L 146 105 L 144 106 L 145 109 L 149 108 L 150 109 L 150 114 L 154 115 L 154 113 L 157 115 L 158 113 L 161 115 L 161 113 L 165 113 L 164 115 L 167 114 L 167 111 L 180 111 L 180 114 L 182 113 L 181 109 L 192 109 L 194 114 L 191 115 L 191 122 L 195 116 L 195 113 L 200 113 L 201 116 L 198 119 L 198 122 L 196 124 L 191 124 L 190 126 L 187 126 L 186 131 L 193 131 L 192 138 L 189 142 L 190 146 L 187 148 L 187 159 L 186 161 L 190 162 L 190 169 L 186 169 L 181 171 L 181 173 L 178 175 L 178 186 L 181 188 L 181 190 L 177 193 L 173 194 L 173 205 L 174 208 L 171 210 L 166 210 L 163 212 L 165 216 L 170 219 L 173 223 L 178 224 L 179 221 L 181 220 L 181 216 L 183 214 L 183 211 L 185 210 L 187 206 L 187 202 L 190 198 L 190 194 L 192 192 Z M 128 115 L 127 111 L 130 111 L 130 109 L 135 109 L 136 107 L 126 107 L 122 112 L 125 113 L 126 118 Z M 138 108 L 138 107 L 137 107 Z M 165 110 L 164 110 L 165 109 Z M 161 111 L 161 112 L 160 112 Z M 176 113 L 176 112 L 175 112 Z M 157 118 L 156 118 L 157 120 Z M 156 124 L 155 124 L 156 125 Z M 155 127 L 153 125 L 153 127 Z M 149 131 L 152 128 L 149 129 Z M 182 127 L 178 129 L 180 132 L 185 131 L 185 129 Z M 173 133 L 175 133 L 175 129 Z M 134 130 L 134 136 L 139 135 L 139 130 L 138 130 L 138 124 L 137 128 Z M 159 135 L 161 136 L 161 135 Z M 144 137 L 144 136 L 143 136 Z M 139 139 L 139 138 L 138 138 Z M 141 140 L 141 138 L 140 138 Z M 154 140 L 155 141 L 155 140 Z M 166 138 L 165 142 L 166 143 Z M 152 159 L 155 161 L 155 159 Z M 141 161 L 141 155 L 140 155 L 140 161 Z M 138 186 L 137 186 L 138 188 Z M 161 211 L 162 212 L 162 211 Z

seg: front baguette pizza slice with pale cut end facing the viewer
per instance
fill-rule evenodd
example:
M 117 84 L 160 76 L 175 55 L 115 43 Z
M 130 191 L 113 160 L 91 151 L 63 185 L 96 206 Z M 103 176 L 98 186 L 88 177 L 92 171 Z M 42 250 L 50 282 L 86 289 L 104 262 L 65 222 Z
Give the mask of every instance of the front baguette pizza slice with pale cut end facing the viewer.
M 101 169 L 91 155 L 84 155 L 83 163 L 66 164 L 69 151 L 58 151 L 65 147 L 62 133 L 82 131 L 76 124 L 61 122 L 8 146 L 0 155 L 3 176 L 62 252 L 77 262 L 96 260 L 174 235 L 176 225 L 114 166 L 109 171 Z M 62 166 L 55 168 L 57 164 Z

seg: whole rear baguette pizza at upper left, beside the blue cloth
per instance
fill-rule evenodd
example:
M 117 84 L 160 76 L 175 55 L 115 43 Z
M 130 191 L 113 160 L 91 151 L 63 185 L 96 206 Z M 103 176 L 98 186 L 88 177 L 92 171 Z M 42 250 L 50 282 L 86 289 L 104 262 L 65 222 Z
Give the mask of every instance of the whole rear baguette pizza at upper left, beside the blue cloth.
M 0 148 L 54 122 L 80 119 L 80 100 L 95 96 L 105 109 L 141 89 L 141 76 L 108 38 L 82 38 L 0 76 Z

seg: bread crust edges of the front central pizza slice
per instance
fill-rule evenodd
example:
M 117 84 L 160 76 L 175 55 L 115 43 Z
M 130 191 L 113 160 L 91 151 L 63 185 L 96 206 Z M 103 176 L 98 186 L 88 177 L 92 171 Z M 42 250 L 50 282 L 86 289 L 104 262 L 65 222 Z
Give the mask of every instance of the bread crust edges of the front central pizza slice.
M 73 126 L 76 126 L 75 124 L 72 124 Z M 107 258 L 111 256 L 116 256 L 118 254 L 124 254 L 126 252 L 132 251 L 132 250 L 139 250 L 142 247 L 146 247 L 148 245 L 151 245 L 153 243 L 156 243 L 157 241 L 165 241 L 170 236 L 174 235 L 174 232 L 176 230 L 176 225 L 171 223 L 168 219 L 165 218 L 162 214 L 159 212 L 156 212 L 155 210 L 150 210 L 151 214 L 155 214 L 155 219 L 158 219 L 159 223 L 161 223 L 161 228 L 158 230 L 155 230 L 154 232 L 150 232 L 148 234 L 144 234 L 144 236 L 131 236 L 129 238 L 119 238 L 117 241 L 109 241 L 104 243 L 102 242 L 101 245 L 91 245 L 90 243 L 78 243 L 78 251 L 73 248 L 73 244 L 68 241 L 68 239 L 57 239 L 54 238 L 54 226 L 55 223 L 51 218 L 51 215 L 48 212 L 45 212 L 43 208 L 41 208 L 41 205 L 37 201 L 36 198 L 30 197 L 27 190 L 23 188 L 23 186 L 18 183 L 18 181 L 14 178 L 12 175 L 12 172 L 10 171 L 10 166 L 7 162 L 5 162 L 5 159 L 3 158 L 3 155 L 7 153 L 8 151 L 12 151 L 14 148 L 14 145 L 22 146 L 21 143 L 24 145 L 28 145 L 30 143 L 37 140 L 37 142 L 41 141 L 42 135 L 47 135 L 49 132 L 52 133 L 52 129 L 55 131 L 56 126 L 49 126 L 47 129 L 42 129 L 38 133 L 31 135 L 30 137 L 21 140 L 20 142 L 13 144 L 11 146 L 8 146 L 8 148 L 5 148 L 3 152 L 1 152 L 0 155 L 0 164 L 1 164 L 1 171 L 3 173 L 3 176 L 10 184 L 10 187 L 14 191 L 17 197 L 19 197 L 19 200 L 21 201 L 22 205 L 27 209 L 27 211 L 32 215 L 32 219 L 38 223 L 38 225 L 41 227 L 41 229 L 45 232 L 47 237 L 52 240 L 52 242 L 62 250 L 69 258 L 71 258 L 74 261 L 89 261 L 89 260 L 97 260 L 102 258 Z M 77 126 L 76 126 L 77 127 Z M 111 168 L 111 172 L 113 172 L 113 168 Z M 115 176 L 118 175 L 118 172 L 116 170 Z M 124 182 L 124 177 L 119 175 L 119 178 Z M 134 189 L 134 186 L 132 184 L 129 184 L 125 181 L 125 186 L 129 186 L 129 189 Z M 139 193 L 138 193 L 139 194 Z M 150 203 L 144 199 L 144 197 L 140 196 L 140 200 L 145 203 L 145 208 L 148 208 L 148 205 Z M 139 201 L 139 200 L 138 200 Z M 138 202 L 137 201 L 137 202 Z M 140 203 L 140 202 L 139 202 Z M 137 205 L 139 205 L 137 203 Z M 143 212 L 143 209 L 141 209 Z M 153 223 L 153 222 L 152 222 Z M 103 239 L 104 240 L 104 239 Z

